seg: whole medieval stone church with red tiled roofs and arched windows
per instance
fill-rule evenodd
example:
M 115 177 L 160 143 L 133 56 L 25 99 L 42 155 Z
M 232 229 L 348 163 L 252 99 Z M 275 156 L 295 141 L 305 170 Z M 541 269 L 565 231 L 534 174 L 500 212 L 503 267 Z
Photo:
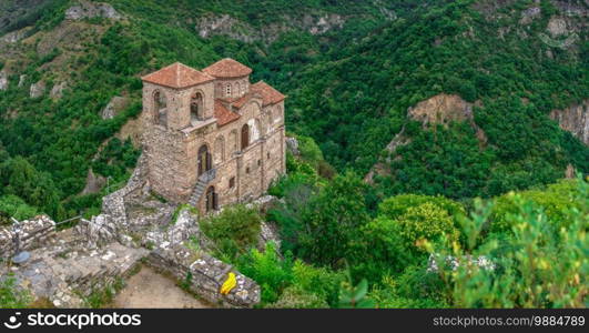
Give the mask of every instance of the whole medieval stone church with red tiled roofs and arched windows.
M 285 172 L 285 95 L 223 59 L 173 63 L 143 80 L 143 153 L 151 189 L 202 213 L 262 195 Z

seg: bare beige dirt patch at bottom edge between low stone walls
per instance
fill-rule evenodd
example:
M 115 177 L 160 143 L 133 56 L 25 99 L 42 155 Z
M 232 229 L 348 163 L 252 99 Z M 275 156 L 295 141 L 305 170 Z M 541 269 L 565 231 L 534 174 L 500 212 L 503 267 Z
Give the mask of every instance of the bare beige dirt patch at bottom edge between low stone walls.
M 114 299 L 120 309 L 206 309 L 212 307 L 184 292 L 175 283 L 143 266 L 126 281 L 126 286 Z

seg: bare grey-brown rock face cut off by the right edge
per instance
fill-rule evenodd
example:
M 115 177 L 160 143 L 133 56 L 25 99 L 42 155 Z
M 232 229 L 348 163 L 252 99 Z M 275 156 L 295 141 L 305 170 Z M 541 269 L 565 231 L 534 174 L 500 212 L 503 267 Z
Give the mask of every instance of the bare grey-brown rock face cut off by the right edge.
M 571 132 L 585 144 L 589 144 L 589 100 L 565 110 L 552 110 L 550 118 L 558 121 L 562 130 Z

